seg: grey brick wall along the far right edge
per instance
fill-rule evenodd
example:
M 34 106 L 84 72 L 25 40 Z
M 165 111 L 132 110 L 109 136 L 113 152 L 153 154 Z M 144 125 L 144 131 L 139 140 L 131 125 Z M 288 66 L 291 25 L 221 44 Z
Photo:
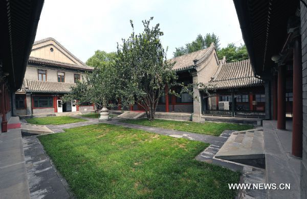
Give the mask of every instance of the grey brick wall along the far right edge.
M 307 198 L 307 9 L 301 3 L 303 65 L 303 159 L 301 161 L 301 198 Z

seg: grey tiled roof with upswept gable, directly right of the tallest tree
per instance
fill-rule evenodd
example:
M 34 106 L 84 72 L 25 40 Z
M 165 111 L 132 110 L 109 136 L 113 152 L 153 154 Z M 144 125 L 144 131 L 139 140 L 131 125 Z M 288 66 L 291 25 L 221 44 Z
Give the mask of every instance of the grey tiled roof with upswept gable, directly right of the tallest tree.
M 214 43 L 211 43 L 210 47 L 207 49 L 202 49 L 186 55 L 174 57 L 172 59 L 169 59 L 168 61 L 176 62 L 173 66 L 173 70 L 175 71 L 192 69 L 197 67 L 200 63 L 204 62 L 214 49 Z

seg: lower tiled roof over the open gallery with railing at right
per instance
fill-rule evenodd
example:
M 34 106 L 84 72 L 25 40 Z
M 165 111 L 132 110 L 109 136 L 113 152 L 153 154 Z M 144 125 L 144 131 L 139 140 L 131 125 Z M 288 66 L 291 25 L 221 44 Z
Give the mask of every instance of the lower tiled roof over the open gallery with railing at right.
M 212 80 L 206 85 L 210 90 L 234 89 L 263 85 L 264 81 L 256 78 L 250 60 L 221 63 Z

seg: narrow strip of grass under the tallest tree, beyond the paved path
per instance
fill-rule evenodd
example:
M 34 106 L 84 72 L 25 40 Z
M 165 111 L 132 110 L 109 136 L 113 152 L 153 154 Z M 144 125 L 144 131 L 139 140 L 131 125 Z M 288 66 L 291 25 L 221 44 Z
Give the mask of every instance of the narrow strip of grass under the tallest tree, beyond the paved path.
M 224 130 L 247 130 L 253 125 L 232 124 L 232 123 L 215 123 L 215 122 L 191 122 L 191 121 L 173 121 L 155 119 L 153 122 L 142 118 L 138 120 L 123 120 L 122 122 L 131 124 L 140 124 L 145 126 L 155 126 L 160 128 L 168 128 L 174 130 L 182 130 L 187 132 L 196 132 L 198 134 L 206 134 L 212 136 L 220 136 Z

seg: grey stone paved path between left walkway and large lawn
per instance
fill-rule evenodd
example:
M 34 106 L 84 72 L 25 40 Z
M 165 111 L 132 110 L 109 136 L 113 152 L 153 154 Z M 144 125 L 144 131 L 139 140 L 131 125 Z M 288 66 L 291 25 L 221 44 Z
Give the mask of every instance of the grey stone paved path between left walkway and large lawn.
M 30 196 L 72 198 L 67 182 L 57 172 L 36 136 L 23 138 Z

